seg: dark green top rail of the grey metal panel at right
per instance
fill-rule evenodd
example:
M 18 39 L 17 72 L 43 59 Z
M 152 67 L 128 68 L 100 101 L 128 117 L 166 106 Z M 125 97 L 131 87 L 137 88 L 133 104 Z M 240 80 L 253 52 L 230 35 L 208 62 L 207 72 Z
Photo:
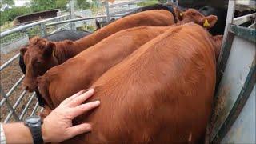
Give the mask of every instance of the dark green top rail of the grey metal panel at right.
M 230 25 L 230 32 L 250 42 L 256 42 L 256 30 L 242 26 Z

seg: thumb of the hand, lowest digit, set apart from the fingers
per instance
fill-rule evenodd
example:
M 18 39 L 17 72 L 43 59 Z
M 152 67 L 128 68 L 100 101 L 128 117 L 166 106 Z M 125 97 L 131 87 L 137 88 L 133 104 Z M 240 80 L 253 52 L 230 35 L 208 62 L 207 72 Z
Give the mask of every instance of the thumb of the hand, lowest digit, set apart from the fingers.
M 83 134 L 86 132 L 89 132 L 91 130 L 91 126 L 89 123 L 82 123 L 77 126 L 70 127 L 70 138 L 73 138 L 74 136 L 78 134 Z

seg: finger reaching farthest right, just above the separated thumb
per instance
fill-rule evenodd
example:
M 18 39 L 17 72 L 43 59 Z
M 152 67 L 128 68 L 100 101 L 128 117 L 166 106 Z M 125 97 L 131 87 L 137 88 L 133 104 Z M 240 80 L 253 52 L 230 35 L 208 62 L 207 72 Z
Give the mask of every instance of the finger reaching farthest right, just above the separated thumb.
M 71 110 L 72 117 L 75 118 L 78 115 L 85 113 L 86 111 L 92 110 L 100 105 L 99 101 L 88 102 L 80 106 L 76 106 Z

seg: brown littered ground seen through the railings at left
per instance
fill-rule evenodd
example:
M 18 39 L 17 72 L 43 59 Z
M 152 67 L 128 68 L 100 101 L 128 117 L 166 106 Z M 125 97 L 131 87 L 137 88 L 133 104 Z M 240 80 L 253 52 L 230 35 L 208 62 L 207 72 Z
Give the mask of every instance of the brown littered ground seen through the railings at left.
M 19 53 L 19 49 L 12 50 L 8 54 L 1 54 L 1 56 L 0 56 L 1 66 L 2 66 L 2 64 L 7 62 L 10 58 L 14 57 L 14 55 L 16 55 L 18 53 Z M 0 74 L 1 79 L 0 80 L 1 80 L 1 86 L 2 86 L 2 89 L 4 90 L 4 92 L 7 93 L 11 89 L 11 87 L 14 86 L 14 84 L 21 77 L 22 77 L 22 70 L 18 66 L 18 58 L 16 58 L 13 62 L 10 63 L 9 66 L 6 66 L 6 68 L 1 71 L 1 74 Z M 22 83 L 20 83 L 18 85 L 18 87 L 14 90 L 14 92 L 12 94 L 10 94 L 9 100 L 10 100 L 10 103 L 12 106 L 14 106 L 15 102 L 18 100 L 19 96 L 22 94 L 22 91 L 23 91 Z M 18 116 L 20 114 L 22 114 L 22 110 L 24 110 L 26 103 L 29 101 L 31 95 L 32 95 L 32 93 L 26 92 L 26 94 L 22 98 L 22 101 L 15 109 Z M 1 101 L 2 101 L 2 98 L 3 98 L 3 96 L 1 95 L 0 96 Z M 36 102 L 37 102 L 37 98 L 34 98 L 33 101 L 30 103 L 30 106 L 23 118 L 26 118 L 27 116 L 29 116 L 32 113 L 32 110 L 34 109 Z M 39 106 L 38 106 L 38 110 L 40 110 Z M 4 120 L 6 119 L 6 116 L 9 114 L 9 111 L 10 110 L 6 106 L 6 102 L 5 102 L 0 110 L 0 112 L 1 112 L 0 121 L 1 122 L 4 122 Z M 13 116 L 10 118 L 10 122 L 14 122 Z

